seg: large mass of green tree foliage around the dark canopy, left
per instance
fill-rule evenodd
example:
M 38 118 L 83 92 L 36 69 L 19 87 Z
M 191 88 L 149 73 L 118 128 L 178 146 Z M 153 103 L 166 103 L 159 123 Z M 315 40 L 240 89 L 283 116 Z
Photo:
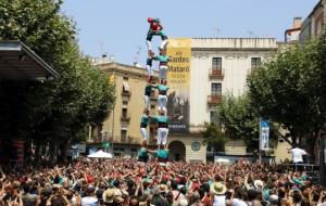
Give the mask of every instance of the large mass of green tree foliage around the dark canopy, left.
M 49 63 L 53 81 L 1 81 L 2 138 L 68 146 L 102 123 L 114 104 L 114 86 L 80 53 L 73 21 L 61 0 L 0 0 L 0 39 L 21 40 Z

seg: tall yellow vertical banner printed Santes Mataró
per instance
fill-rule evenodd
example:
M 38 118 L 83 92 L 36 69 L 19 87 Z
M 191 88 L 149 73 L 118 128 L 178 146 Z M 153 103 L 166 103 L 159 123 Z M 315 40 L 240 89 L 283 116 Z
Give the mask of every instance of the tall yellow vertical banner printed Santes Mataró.
M 170 133 L 189 132 L 189 89 L 190 89 L 190 62 L 191 39 L 168 39 L 167 86 L 167 115 L 171 117 Z

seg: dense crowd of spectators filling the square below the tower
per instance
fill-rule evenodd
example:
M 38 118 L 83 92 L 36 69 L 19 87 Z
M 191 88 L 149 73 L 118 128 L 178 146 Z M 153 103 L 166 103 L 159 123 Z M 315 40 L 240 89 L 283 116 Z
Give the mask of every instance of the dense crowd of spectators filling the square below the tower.
M 4 206 L 298 206 L 326 205 L 304 171 L 239 160 L 233 165 L 83 158 L 22 171 L 0 169 Z

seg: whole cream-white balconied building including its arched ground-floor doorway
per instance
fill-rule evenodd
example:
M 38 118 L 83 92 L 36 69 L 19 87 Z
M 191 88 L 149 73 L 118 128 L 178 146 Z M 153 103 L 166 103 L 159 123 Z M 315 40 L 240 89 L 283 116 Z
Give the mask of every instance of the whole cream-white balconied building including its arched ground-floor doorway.
M 168 136 L 172 157 L 205 162 L 201 137 L 204 123 L 215 119 L 215 108 L 226 93 L 241 95 L 247 76 L 278 49 L 274 38 L 192 38 L 190 61 L 189 133 Z M 228 141 L 227 154 L 246 154 L 243 141 Z

